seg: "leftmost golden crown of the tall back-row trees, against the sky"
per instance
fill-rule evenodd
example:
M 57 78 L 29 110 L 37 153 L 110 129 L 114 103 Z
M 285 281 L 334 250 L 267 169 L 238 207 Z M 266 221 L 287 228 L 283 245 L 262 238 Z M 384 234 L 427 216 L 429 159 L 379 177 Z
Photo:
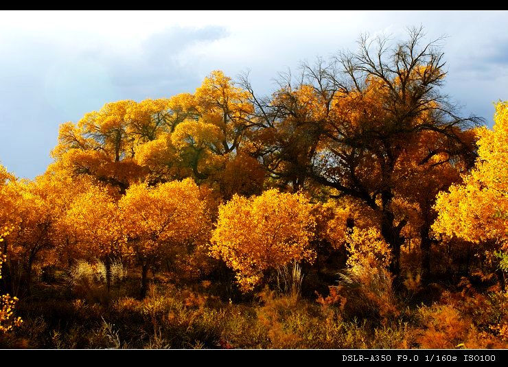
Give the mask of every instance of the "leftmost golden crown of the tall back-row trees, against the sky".
M 152 121 L 150 111 L 124 100 L 86 113 L 77 124 L 63 123 L 52 156 L 72 176 L 88 175 L 124 193 L 143 176 L 132 159 L 135 143 L 150 139 L 160 123 Z

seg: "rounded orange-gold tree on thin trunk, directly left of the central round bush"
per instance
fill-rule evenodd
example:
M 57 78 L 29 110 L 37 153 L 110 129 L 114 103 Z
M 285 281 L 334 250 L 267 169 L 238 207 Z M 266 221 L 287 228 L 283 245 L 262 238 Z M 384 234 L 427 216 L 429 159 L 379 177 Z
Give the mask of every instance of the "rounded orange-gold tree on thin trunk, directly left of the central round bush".
M 205 203 L 190 178 L 157 187 L 132 185 L 119 200 L 128 244 L 141 263 L 141 297 L 150 266 L 174 253 L 204 243 L 209 230 Z

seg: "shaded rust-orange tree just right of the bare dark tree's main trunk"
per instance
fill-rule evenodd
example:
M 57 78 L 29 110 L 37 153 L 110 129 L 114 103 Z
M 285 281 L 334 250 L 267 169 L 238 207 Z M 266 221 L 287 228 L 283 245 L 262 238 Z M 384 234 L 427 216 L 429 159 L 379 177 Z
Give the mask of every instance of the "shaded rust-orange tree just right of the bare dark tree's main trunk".
M 474 129 L 457 132 L 457 136 L 466 146 L 474 146 Z M 429 152 L 429 146 L 434 147 L 435 152 Z M 422 132 L 415 143 L 406 147 L 393 175 L 397 180 L 393 211 L 399 220 L 407 220 L 401 235 L 419 247 L 421 276 L 425 283 L 430 281 L 431 250 L 436 243 L 431 226 L 437 218 L 433 208 L 437 194 L 461 182 L 461 174 L 472 164 L 472 152 L 455 152 L 452 159 L 448 152 L 448 142 L 442 134 L 430 130 Z

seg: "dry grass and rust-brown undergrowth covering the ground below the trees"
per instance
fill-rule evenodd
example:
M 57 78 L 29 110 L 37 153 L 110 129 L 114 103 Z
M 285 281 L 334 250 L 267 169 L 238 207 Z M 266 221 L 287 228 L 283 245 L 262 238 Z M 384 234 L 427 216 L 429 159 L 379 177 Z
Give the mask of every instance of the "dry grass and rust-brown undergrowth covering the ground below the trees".
M 86 274 L 81 270 L 80 274 Z M 132 274 L 131 274 L 132 275 Z M 16 310 L 21 327 L 0 337 L 8 348 L 506 348 L 508 298 L 491 290 L 441 292 L 439 302 L 408 303 L 376 269 L 343 274 L 324 296 L 266 287 L 224 298 L 210 281 L 159 276 L 144 300 L 136 276 L 86 287 L 38 283 Z M 413 280 L 414 281 L 414 280 Z M 280 283 L 279 283 L 280 285 Z M 413 292 L 416 292 L 413 289 Z M 420 289 L 418 292 L 425 292 Z M 222 296 L 222 298 L 221 298 Z M 435 297 L 433 295 L 432 297 Z M 470 305 L 470 306 L 467 306 Z

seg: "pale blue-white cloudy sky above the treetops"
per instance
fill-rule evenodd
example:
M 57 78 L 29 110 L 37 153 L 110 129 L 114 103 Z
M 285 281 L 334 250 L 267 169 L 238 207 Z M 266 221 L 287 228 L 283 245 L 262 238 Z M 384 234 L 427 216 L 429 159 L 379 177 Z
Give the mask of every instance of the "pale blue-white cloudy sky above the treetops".
M 0 163 L 33 178 L 58 125 L 118 99 L 193 92 L 212 70 L 277 72 L 356 48 L 362 33 L 446 35 L 446 93 L 492 126 L 508 100 L 508 12 L 0 12 Z

